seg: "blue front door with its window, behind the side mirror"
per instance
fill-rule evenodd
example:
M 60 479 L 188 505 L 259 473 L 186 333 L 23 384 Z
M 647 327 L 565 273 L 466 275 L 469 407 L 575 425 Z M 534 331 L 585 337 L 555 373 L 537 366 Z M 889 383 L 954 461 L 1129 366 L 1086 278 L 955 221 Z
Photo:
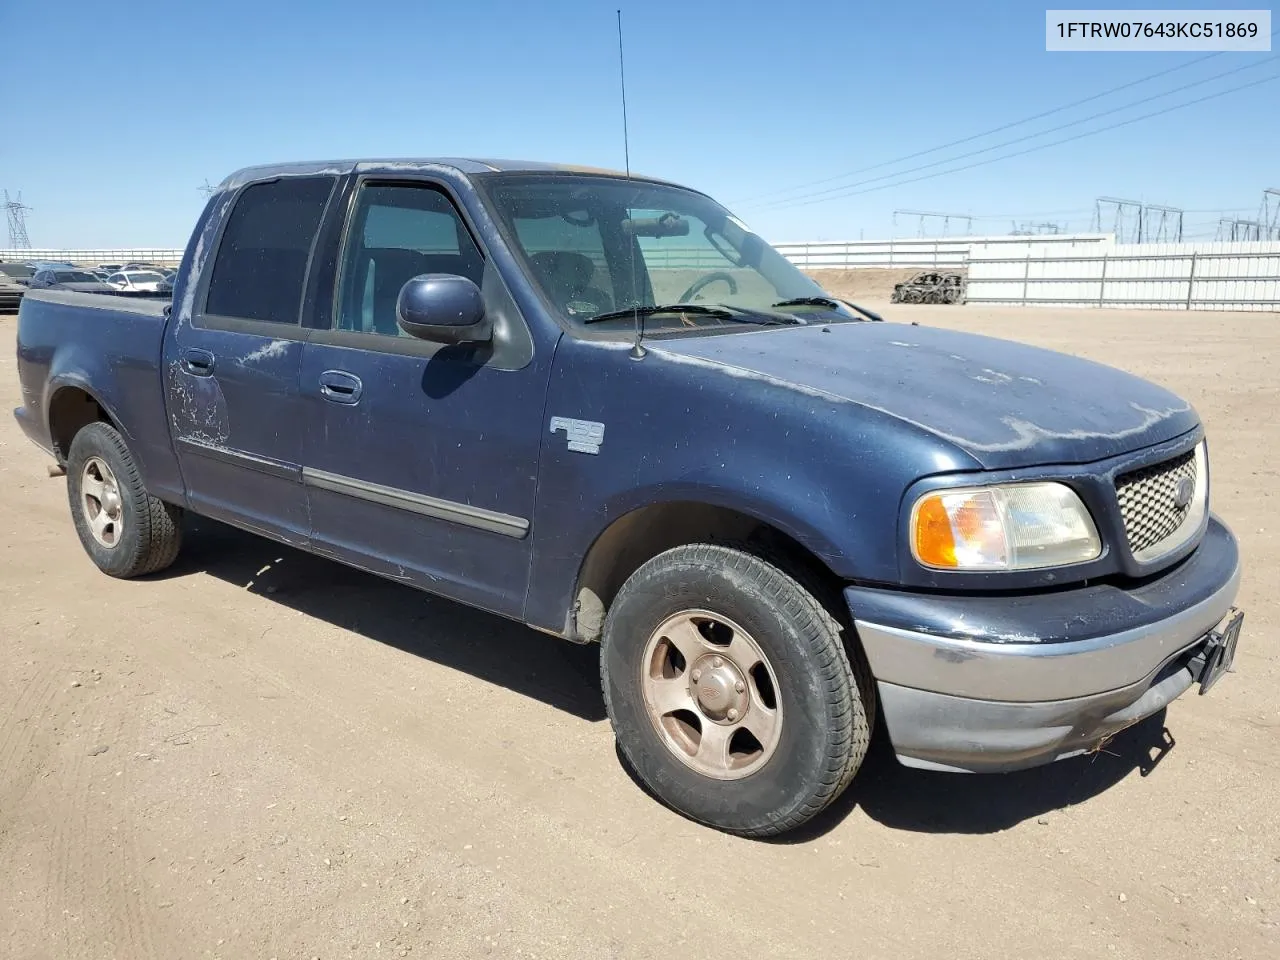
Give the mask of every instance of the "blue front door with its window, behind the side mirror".
M 480 285 L 492 344 L 397 326 L 401 287 L 431 273 Z M 328 312 L 300 371 L 314 549 L 518 616 L 548 365 L 443 188 L 357 186 Z

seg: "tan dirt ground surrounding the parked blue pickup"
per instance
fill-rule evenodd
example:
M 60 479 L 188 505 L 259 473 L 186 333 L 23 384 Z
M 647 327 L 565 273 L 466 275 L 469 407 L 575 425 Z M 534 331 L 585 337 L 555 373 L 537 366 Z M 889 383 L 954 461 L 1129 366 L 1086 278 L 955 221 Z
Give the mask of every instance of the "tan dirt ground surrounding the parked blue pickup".
M 209 522 L 165 575 L 97 573 L 8 416 L 4 317 L 0 956 L 1280 956 L 1280 316 L 877 306 L 1196 403 L 1233 676 L 1018 774 L 878 745 L 810 828 L 727 837 L 628 780 L 594 648 Z

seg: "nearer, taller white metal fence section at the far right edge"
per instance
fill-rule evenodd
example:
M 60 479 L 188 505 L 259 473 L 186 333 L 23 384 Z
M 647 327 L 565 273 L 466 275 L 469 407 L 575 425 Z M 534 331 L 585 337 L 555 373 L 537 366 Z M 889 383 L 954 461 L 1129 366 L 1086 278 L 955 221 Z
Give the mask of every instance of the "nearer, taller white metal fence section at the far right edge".
M 973 250 L 966 302 L 1280 311 L 1280 242 Z

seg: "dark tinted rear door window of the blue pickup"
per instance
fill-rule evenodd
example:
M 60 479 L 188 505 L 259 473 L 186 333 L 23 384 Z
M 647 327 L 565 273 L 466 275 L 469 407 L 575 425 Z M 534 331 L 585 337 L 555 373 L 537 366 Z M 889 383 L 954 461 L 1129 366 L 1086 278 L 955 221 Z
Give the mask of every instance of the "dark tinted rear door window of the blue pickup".
M 247 187 L 214 259 L 205 312 L 297 324 L 307 262 L 333 177 L 283 177 Z

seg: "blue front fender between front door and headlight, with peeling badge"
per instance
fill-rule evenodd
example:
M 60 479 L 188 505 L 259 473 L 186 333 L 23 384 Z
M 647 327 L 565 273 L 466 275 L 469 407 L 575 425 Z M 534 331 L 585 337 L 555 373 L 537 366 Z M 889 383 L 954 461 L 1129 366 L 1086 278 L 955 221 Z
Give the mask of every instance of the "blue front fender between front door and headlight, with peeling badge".
M 552 630 L 566 622 L 591 544 L 641 507 L 724 507 L 776 527 L 841 579 L 896 582 L 902 493 L 927 474 L 973 468 L 893 417 L 673 362 L 657 346 L 635 361 L 625 344 L 563 338 L 547 417 L 526 620 Z M 550 429 L 566 422 L 599 442 Z

